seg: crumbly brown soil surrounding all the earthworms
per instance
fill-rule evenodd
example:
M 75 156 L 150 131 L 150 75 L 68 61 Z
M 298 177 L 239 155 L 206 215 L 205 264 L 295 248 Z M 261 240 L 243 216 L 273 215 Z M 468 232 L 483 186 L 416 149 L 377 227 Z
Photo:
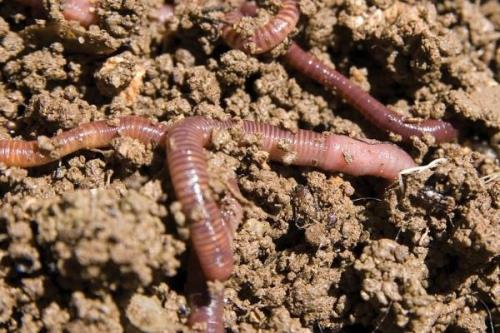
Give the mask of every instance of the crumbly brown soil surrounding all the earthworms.
M 270 163 L 231 131 L 214 137 L 214 191 L 236 173 L 246 198 L 228 331 L 500 330 L 500 4 L 300 0 L 294 39 L 397 112 L 459 128 L 457 142 L 436 145 L 385 135 L 279 52 L 229 50 L 217 1 L 179 2 L 160 24 L 162 0 L 101 0 L 86 30 L 56 0 L 45 13 L 0 0 L 0 138 L 43 143 L 135 114 L 396 142 L 437 162 L 388 185 Z M 276 2 L 259 6 L 261 20 Z M 189 232 L 163 161 L 124 138 L 1 167 L 0 332 L 188 331 Z

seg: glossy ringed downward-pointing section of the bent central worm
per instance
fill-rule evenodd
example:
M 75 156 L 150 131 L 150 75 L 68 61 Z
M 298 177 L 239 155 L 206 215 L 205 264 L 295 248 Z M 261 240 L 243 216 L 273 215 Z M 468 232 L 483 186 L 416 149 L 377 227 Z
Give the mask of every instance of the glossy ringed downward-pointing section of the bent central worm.
M 167 136 L 167 163 L 177 199 L 191 222 L 191 242 L 208 280 L 225 281 L 233 271 L 231 237 L 211 197 L 204 146 L 215 122 L 188 118 Z

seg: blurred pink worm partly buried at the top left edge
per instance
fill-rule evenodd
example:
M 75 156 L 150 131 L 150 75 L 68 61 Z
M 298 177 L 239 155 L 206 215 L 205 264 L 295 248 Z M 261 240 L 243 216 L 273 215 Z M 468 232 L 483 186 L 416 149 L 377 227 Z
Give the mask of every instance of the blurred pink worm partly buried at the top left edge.
M 41 9 L 43 0 L 17 0 L 34 9 Z M 64 0 L 61 4 L 63 16 L 68 21 L 77 21 L 88 27 L 97 23 L 96 2 L 93 0 Z

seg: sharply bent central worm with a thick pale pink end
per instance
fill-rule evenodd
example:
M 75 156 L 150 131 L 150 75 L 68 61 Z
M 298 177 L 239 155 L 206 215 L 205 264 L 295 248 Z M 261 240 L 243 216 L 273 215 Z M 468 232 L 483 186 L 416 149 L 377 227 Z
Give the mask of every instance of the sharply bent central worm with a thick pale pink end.
M 167 163 L 172 184 L 191 222 L 191 241 L 208 280 L 226 280 L 233 270 L 231 237 L 210 195 L 205 152 L 214 128 L 237 126 L 236 121 L 190 117 L 175 124 L 167 135 Z M 394 180 L 415 166 L 397 146 L 368 143 L 341 135 L 308 130 L 291 133 L 277 127 L 242 121 L 243 131 L 260 137 L 262 149 L 272 160 L 352 175 L 372 175 Z

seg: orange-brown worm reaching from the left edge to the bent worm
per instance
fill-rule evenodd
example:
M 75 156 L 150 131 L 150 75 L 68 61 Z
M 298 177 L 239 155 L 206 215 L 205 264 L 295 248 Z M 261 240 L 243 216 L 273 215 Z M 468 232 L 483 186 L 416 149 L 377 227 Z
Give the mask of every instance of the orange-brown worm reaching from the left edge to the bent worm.
M 37 141 L 0 140 L 0 163 L 29 168 L 47 164 L 80 149 L 108 146 L 111 140 L 129 136 L 143 143 L 163 144 L 166 128 L 150 120 L 127 116 L 113 121 L 82 124 L 50 139 L 53 150 L 44 151 Z

